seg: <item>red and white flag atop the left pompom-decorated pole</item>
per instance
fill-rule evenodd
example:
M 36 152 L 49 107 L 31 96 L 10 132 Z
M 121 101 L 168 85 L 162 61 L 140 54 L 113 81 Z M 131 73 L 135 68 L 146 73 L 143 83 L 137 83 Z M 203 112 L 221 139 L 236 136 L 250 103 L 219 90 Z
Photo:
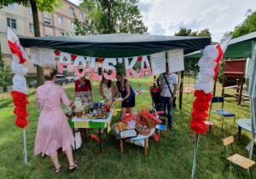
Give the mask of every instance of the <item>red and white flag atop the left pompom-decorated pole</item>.
M 20 45 L 19 38 L 15 35 L 14 32 L 8 27 L 7 39 L 9 43 L 9 49 L 14 55 L 19 56 L 20 63 L 25 63 L 27 55 L 23 47 Z

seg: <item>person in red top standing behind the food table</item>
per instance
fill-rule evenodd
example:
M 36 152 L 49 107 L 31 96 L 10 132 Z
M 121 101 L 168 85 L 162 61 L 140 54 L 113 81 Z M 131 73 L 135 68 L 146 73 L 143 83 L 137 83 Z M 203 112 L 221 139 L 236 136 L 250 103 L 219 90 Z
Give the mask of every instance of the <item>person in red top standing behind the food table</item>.
M 83 72 L 83 69 L 79 68 L 79 72 Z M 93 101 L 90 80 L 86 79 L 85 75 L 84 77 L 81 77 L 75 81 L 75 90 L 73 93 L 72 104 L 78 94 L 82 103 Z

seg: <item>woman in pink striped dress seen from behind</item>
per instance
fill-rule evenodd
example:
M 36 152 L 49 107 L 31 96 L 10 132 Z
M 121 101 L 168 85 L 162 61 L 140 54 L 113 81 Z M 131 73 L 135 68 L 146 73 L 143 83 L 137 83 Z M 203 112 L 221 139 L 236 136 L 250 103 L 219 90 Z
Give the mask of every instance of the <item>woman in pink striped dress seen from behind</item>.
M 67 94 L 61 86 L 55 85 L 56 75 L 53 66 L 44 66 L 44 78 L 44 85 L 38 87 L 36 93 L 36 102 L 38 108 L 41 108 L 41 113 L 38 120 L 34 154 L 49 153 L 57 174 L 61 171 L 57 155 L 57 149 L 60 147 L 67 154 L 69 170 L 74 170 L 78 166 L 73 162 L 71 144 L 74 137 L 65 113 L 61 109 L 61 102 L 68 107 L 71 101 L 68 100 Z

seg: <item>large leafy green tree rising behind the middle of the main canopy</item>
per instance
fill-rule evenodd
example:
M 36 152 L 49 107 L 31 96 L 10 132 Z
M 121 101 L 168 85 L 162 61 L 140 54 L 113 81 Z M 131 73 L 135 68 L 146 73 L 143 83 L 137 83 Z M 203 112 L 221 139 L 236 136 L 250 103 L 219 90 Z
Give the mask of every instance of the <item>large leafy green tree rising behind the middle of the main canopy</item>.
M 84 0 L 79 6 L 87 10 L 95 33 L 147 34 L 148 27 L 144 26 L 143 16 L 140 14 L 137 3 L 137 0 Z M 85 22 L 84 26 L 86 25 L 88 23 Z

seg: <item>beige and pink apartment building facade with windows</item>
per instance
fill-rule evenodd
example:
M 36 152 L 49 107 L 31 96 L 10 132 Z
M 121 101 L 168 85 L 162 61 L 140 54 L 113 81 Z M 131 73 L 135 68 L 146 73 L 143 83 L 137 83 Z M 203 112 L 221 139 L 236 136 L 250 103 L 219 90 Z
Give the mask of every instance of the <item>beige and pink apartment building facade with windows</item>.
M 54 14 L 41 13 L 38 11 L 39 26 L 41 37 L 50 36 L 74 36 L 75 24 L 73 14 L 76 14 L 80 21 L 84 20 L 86 12 L 79 6 L 61 0 L 65 6 L 62 9 L 55 9 Z M 3 60 L 11 65 L 11 52 L 7 40 L 7 27 L 9 26 L 18 37 L 34 37 L 34 27 L 32 20 L 31 7 L 25 7 L 16 3 L 9 4 L 8 7 L 0 9 L 0 49 L 2 50 Z M 30 50 L 26 49 L 28 61 L 25 66 L 28 68 L 30 78 L 36 77 L 37 68 L 32 64 Z M 57 66 L 56 61 L 56 66 Z M 73 73 L 73 66 L 64 66 L 64 72 Z

